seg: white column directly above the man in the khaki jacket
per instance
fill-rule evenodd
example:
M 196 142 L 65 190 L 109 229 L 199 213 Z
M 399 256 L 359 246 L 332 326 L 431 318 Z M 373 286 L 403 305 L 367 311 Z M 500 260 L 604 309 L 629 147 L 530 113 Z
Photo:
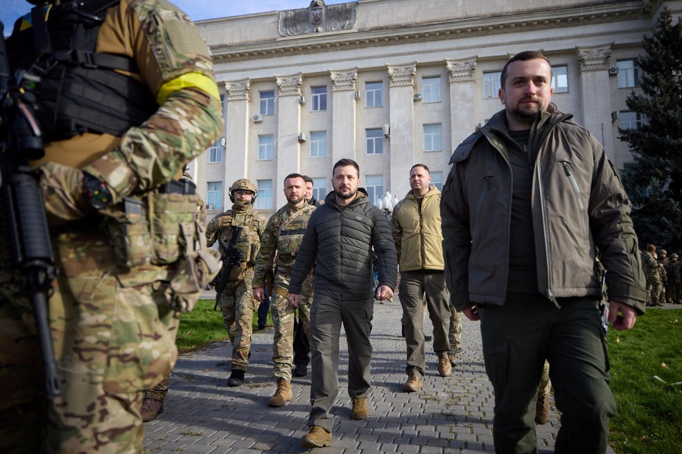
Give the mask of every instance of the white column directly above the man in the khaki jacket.
M 398 199 L 410 190 L 410 167 L 414 164 L 414 75 L 417 62 L 387 65 L 390 79 L 390 138 L 384 139 L 384 152 L 391 154 L 391 174 L 384 181 Z

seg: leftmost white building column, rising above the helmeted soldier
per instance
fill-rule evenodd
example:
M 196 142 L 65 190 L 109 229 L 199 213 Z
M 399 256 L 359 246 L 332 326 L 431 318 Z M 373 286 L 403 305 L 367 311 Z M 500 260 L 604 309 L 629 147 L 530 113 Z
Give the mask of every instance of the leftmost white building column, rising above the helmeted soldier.
M 222 206 L 229 208 L 229 187 L 234 181 L 249 178 L 249 119 L 251 100 L 250 79 L 225 81 L 225 180 L 222 188 Z M 243 147 L 239 147 L 243 144 Z M 255 181 L 254 181 L 255 184 Z

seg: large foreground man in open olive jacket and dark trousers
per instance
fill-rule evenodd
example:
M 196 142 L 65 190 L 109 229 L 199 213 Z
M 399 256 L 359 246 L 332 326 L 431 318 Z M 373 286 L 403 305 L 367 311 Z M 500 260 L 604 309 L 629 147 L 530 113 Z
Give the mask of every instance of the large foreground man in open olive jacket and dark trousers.
M 455 149 L 443 189 L 446 282 L 457 309 L 481 321 L 495 392 L 497 453 L 537 452 L 535 403 L 550 363 L 562 453 L 604 453 L 609 323 L 630 329 L 647 293 L 630 201 L 604 148 L 550 104 L 552 67 L 536 52 L 509 60 L 498 112 Z

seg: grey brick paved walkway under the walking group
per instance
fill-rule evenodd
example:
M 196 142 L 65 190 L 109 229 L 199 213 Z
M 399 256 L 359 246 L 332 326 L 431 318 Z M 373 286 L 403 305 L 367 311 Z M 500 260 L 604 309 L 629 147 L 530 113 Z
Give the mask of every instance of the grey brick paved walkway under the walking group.
M 406 375 L 400 318 L 397 300 L 374 306 L 373 388 L 367 399 L 370 417 L 365 421 L 350 419 L 348 355 L 342 334 L 334 443 L 313 453 L 494 452 L 493 393 L 484 370 L 478 323 L 466 318 L 462 323 L 464 351 L 453 376 L 438 375 L 437 358 L 430 352 L 423 388 L 408 394 L 401 390 Z M 425 332 L 431 332 L 428 319 Z M 272 327 L 254 333 L 246 381 L 238 388 L 227 386 L 229 342 L 181 356 L 164 413 L 145 424 L 145 448 L 150 453 L 306 452 L 300 439 L 308 430 L 310 374 L 292 380 L 294 401 L 280 408 L 268 407 L 275 389 L 272 335 Z M 554 402 L 550 403 L 554 410 Z M 554 452 L 558 428 L 556 412 L 549 424 L 538 427 L 541 453 Z

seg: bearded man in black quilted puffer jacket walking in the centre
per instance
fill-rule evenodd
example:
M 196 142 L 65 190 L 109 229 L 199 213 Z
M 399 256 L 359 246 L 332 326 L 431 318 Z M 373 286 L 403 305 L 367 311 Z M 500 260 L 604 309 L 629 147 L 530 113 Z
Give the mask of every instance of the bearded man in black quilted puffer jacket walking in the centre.
M 351 418 L 366 419 L 371 359 L 371 318 L 374 313 L 372 248 L 378 256 L 380 300 L 393 297 L 398 273 L 396 248 L 386 216 L 369 202 L 360 185 L 360 167 L 351 159 L 334 165 L 333 192 L 317 208 L 301 242 L 291 275 L 288 299 L 298 305 L 301 284 L 315 265 L 311 308 L 313 339 L 310 431 L 304 448 L 331 446 L 333 417 L 329 414 L 339 388 L 339 333 L 343 323 L 348 341 L 348 394 Z

